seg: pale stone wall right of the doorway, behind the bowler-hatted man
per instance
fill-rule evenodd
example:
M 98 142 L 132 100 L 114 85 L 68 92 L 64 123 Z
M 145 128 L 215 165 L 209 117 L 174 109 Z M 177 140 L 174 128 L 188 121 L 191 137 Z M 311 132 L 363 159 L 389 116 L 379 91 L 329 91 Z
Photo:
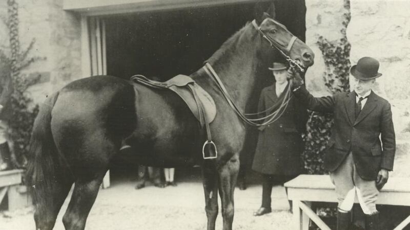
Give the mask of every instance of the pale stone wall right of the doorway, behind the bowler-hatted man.
M 316 41 L 340 38 L 343 0 L 306 1 L 306 43 L 313 48 L 315 65 L 306 75 L 316 96 L 329 95 L 324 87 L 324 63 Z M 397 138 L 395 176 L 410 176 L 410 1 L 351 0 L 347 39 L 352 44 L 351 63 L 362 56 L 380 61 L 376 93 L 392 104 Z

